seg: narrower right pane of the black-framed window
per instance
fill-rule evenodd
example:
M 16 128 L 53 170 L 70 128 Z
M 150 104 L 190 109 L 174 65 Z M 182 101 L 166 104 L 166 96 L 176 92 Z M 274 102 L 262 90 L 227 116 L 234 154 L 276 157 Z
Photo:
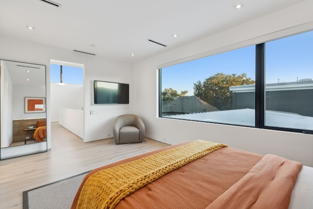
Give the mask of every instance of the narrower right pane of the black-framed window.
M 313 130 L 313 31 L 265 43 L 265 126 Z

